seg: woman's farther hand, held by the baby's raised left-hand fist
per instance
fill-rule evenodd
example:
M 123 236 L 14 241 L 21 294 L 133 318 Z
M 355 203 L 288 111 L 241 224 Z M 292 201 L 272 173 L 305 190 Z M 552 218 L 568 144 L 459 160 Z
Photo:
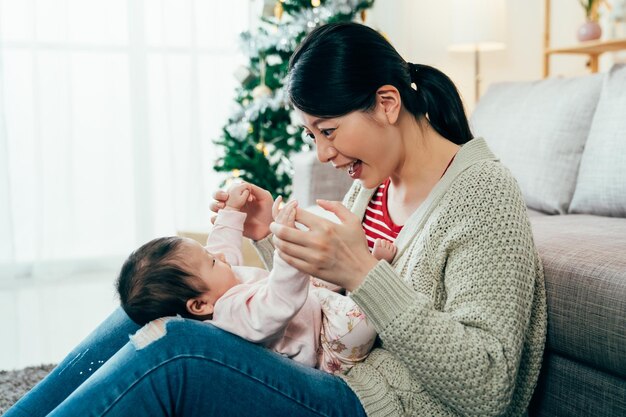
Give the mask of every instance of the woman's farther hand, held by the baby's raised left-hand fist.
M 272 222 L 272 204 L 274 199 L 269 191 L 254 184 L 247 183 L 250 186 L 250 195 L 248 202 L 241 208 L 241 212 L 246 213 L 246 221 L 243 225 L 243 235 L 252 240 L 261 240 L 270 234 L 270 223 Z M 213 193 L 215 201 L 211 203 L 209 208 L 217 213 L 218 210 L 226 207 L 228 193 L 226 191 L 216 191 Z M 215 223 L 215 218 L 211 217 L 211 223 Z

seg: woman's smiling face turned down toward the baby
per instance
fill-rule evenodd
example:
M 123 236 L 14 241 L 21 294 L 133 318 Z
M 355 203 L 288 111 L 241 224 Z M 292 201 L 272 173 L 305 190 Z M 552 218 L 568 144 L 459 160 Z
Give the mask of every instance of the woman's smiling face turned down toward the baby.
M 320 162 L 331 162 L 366 188 L 377 187 L 393 173 L 398 162 L 398 141 L 392 140 L 387 119 L 378 110 L 329 119 L 300 110 L 296 114 L 306 136 L 315 142 Z

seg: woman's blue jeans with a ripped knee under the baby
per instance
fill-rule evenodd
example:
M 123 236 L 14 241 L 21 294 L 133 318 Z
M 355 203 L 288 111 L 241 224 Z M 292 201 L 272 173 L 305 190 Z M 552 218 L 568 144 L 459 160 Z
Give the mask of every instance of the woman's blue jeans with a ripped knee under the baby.
M 340 378 L 206 323 L 120 308 L 5 417 L 365 416 Z

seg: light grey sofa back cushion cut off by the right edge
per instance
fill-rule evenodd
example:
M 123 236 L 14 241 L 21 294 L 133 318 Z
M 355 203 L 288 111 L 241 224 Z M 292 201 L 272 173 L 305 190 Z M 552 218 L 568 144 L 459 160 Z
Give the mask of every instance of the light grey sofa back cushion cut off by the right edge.
M 604 79 L 570 211 L 626 217 L 626 65 Z

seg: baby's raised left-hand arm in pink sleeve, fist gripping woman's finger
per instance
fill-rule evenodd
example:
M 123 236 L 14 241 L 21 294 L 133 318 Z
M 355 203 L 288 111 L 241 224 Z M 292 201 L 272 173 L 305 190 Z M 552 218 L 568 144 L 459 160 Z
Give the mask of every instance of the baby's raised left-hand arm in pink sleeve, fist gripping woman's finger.
M 237 183 L 228 188 L 226 207 L 217 213 L 206 243 L 209 252 L 222 252 L 228 263 L 233 266 L 243 264 L 241 241 L 246 213 L 239 210 L 246 204 L 249 196 L 249 184 Z

